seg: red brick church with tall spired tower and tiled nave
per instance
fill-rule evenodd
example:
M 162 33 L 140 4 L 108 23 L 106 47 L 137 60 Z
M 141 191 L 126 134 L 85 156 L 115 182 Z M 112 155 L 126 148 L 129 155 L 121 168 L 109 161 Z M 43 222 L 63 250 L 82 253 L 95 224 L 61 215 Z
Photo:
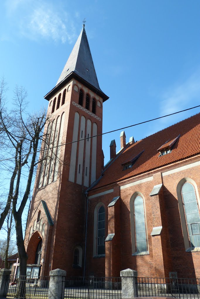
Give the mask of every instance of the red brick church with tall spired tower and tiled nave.
M 45 99 L 51 121 L 25 233 L 27 269 L 200 277 L 200 114 L 137 142 L 121 132 L 121 149 L 116 153 L 112 140 L 104 166 L 109 97 L 99 87 L 85 27 Z

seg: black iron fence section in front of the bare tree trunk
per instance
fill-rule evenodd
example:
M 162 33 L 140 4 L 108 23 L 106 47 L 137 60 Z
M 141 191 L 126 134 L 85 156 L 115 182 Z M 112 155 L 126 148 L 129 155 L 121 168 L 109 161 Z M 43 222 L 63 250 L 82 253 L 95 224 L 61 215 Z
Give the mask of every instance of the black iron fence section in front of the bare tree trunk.
M 49 291 L 49 276 L 10 276 L 6 280 L 9 298 L 46 299 Z

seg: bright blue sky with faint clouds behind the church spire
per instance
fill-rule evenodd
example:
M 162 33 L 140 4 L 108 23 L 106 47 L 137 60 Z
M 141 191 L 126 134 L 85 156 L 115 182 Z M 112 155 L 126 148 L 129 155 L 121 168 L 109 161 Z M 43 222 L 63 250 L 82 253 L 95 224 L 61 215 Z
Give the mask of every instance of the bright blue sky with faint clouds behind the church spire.
M 82 30 L 85 30 L 100 88 L 103 132 L 199 105 L 200 1 L 0 1 L 0 76 L 8 100 L 16 84 L 28 91 L 29 109 L 48 102 Z M 126 129 L 135 141 L 200 112 L 194 109 Z M 120 131 L 103 136 L 105 163 Z

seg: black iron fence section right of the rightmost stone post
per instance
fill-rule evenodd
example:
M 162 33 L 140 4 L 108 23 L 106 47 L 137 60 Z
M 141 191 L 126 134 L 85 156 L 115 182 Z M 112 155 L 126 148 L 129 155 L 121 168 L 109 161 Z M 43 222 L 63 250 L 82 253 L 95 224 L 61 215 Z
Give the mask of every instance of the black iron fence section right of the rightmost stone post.
M 200 299 L 200 280 L 190 278 L 137 277 L 138 297 L 162 296 Z

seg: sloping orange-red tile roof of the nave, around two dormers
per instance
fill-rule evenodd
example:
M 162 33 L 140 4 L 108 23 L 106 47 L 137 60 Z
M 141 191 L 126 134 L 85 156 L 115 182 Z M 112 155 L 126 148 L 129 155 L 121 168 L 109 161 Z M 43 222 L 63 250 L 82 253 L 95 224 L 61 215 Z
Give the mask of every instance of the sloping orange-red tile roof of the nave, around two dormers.
M 175 142 L 172 151 L 159 157 L 157 149 L 162 147 L 166 141 L 169 141 L 170 144 L 179 134 L 181 136 Z M 123 170 L 122 164 L 137 156 L 144 149 L 145 151 L 136 160 L 133 167 Z M 200 153 L 200 113 L 128 146 L 121 155 L 118 154 L 92 189 L 136 176 L 198 153 Z

